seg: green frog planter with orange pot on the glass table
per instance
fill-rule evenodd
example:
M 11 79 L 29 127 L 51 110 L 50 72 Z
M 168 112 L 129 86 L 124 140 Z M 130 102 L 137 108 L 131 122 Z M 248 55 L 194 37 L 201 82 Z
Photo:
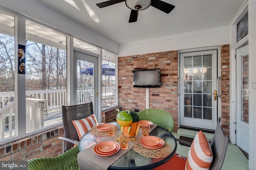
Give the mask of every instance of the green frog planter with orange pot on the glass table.
M 140 128 L 138 114 L 130 110 L 120 111 L 116 109 L 116 112 L 118 113 L 116 115 L 116 121 L 121 126 L 121 132 L 128 134 L 130 138 L 136 137 Z

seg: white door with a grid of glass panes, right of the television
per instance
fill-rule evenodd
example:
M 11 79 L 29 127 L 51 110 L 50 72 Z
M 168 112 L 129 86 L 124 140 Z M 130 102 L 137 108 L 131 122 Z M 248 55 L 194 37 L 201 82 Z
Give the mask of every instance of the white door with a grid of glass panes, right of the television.
M 180 54 L 180 125 L 214 130 L 217 122 L 217 50 Z

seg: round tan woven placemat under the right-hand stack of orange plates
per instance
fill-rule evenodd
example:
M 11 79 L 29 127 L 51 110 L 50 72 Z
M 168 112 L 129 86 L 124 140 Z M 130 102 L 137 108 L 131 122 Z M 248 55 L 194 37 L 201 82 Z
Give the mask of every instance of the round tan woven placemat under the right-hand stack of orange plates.
M 146 149 L 140 144 L 140 138 L 138 138 L 132 143 L 132 149 L 147 158 L 162 158 L 171 154 L 172 147 L 168 143 L 164 143 L 160 149 Z

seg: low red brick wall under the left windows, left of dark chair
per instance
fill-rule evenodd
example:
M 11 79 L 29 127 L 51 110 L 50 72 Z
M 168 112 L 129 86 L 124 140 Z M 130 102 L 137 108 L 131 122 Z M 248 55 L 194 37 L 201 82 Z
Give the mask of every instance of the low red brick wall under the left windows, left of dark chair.
M 62 154 L 63 126 L 0 145 L 0 160 L 29 160 Z

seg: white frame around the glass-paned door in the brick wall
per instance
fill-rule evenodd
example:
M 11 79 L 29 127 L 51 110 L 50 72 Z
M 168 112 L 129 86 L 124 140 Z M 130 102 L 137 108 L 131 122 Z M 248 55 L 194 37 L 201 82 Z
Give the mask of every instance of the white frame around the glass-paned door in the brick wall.
M 180 93 L 180 53 L 190 53 L 190 52 L 197 52 L 197 51 L 209 51 L 209 50 L 217 50 L 217 77 L 221 76 L 221 64 L 220 64 L 220 59 L 221 59 L 221 46 L 217 45 L 217 46 L 212 46 L 212 47 L 202 47 L 202 48 L 196 48 L 196 49 L 184 49 L 184 50 L 179 50 L 178 51 L 178 93 Z M 220 94 L 221 96 L 221 94 Z M 180 95 L 178 94 L 178 128 L 180 128 L 180 109 L 183 106 L 181 106 L 181 102 L 180 102 Z M 217 117 L 221 117 L 221 100 L 217 100 Z

